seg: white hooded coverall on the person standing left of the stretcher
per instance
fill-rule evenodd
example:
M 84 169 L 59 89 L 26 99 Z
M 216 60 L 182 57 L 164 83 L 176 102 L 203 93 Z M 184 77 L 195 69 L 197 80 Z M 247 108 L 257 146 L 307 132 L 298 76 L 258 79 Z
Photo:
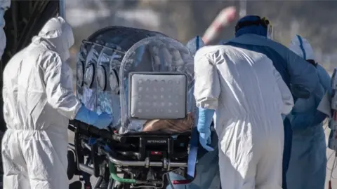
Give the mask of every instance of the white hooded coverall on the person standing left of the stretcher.
M 4 189 L 66 189 L 67 125 L 81 103 L 65 63 L 72 28 L 52 18 L 4 69 Z

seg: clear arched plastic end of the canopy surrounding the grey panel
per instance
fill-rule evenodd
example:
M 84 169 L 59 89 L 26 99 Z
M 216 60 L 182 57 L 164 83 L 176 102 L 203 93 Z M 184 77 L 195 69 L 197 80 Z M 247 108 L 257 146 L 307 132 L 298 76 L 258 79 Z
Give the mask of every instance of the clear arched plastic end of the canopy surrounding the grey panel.
M 131 72 L 155 71 L 185 73 L 187 76 L 187 112 L 193 113 L 193 59 L 185 45 L 165 36 L 145 38 L 131 47 L 119 69 L 121 125 L 124 131 L 143 130 L 150 120 L 133 120 L 128 113 L 128 75 Z

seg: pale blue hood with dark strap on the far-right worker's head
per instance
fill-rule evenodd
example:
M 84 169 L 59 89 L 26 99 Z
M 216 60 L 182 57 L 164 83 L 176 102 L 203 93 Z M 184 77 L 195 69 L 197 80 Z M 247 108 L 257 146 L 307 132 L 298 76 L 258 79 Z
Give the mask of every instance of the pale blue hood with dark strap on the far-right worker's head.
M 293 36 L 289 48 L 303 59 L 315 60 L 315 53 L 309 41 L 299 35 Z

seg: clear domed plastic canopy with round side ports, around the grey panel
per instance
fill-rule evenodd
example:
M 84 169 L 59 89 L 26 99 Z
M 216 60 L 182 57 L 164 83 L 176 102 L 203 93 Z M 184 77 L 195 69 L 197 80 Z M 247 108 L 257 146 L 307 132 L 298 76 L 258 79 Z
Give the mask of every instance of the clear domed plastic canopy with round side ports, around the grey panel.
M 164 125 L 192 127 L 192 55 L 182 43 L 155 31 L 107 27 L 83 41 L 77 59 L 77 96 L 88 109 L 112 113 L 112 127 L 121 127 L 122 133 L 145 131 L 147 125 L 154 122 L 158 125 L 161 120 L 134 120 L 128 114 L 128 75 L 144 71 L 184 73 L 187 76 L 189 116 L 184 120 L 163 121 L 166 121 Z

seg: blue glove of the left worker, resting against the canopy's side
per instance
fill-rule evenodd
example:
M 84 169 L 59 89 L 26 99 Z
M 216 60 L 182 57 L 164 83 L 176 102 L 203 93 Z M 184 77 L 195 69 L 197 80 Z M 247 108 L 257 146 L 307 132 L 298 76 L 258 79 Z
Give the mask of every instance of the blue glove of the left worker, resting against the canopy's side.
M 75 120 L 80 120 L 88 125 L 93 125 L 103 129 L 112 123 L 112 116 L 107 113 L 98 115 L 94 111 L 90 111 L 86 109 L 86 106 L 82 105 L 75 116 Z

